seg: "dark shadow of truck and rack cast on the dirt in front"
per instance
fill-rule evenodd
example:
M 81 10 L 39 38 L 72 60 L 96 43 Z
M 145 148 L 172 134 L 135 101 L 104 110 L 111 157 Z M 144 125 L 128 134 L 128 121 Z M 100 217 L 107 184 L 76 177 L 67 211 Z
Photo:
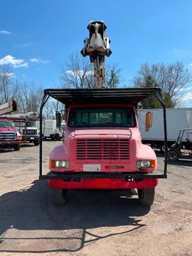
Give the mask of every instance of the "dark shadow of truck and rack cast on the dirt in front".
M 79 251 L 99 239 L 128 236 L 144 226 L 140 217 L 150 210 L 139 206 L 130 192 L 72 190 L 64 206 L 50 203 L 48 192 L 45 181 L 35 181 L 30 188 L 1 196 L 0 251 Z

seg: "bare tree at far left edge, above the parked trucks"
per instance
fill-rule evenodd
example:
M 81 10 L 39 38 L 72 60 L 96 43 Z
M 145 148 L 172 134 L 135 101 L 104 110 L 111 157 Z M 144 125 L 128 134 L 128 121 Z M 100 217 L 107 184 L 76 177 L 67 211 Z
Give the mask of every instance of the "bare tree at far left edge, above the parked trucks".
M 17 94 L 17 84 L 13 83 L 13 73 L 7 65 L 0 66 L 0 104 L 12 100 Z

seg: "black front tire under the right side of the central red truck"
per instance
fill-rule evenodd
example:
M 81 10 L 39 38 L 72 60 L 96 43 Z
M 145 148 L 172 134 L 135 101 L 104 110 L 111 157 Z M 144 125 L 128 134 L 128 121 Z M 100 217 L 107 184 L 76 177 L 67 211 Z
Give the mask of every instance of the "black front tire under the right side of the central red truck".
M 154 202 L 154 188 L 138 188 L 139 203 L 142 206 L 151 206 Z

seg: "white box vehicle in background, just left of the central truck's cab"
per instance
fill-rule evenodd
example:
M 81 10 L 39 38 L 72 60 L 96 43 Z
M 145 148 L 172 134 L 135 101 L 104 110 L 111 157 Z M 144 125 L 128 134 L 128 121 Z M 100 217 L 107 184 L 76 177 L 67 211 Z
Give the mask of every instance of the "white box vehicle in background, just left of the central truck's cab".
M 55 119 L 43 119 L 42 125 L 43 138 L 52 140 L 60 140 L 62 138 L 65 131 L 65 123 L 62 123 L 61 128 L 57 128 Z M 39 128 L 40 122 L 36 121 L 35 126 Z

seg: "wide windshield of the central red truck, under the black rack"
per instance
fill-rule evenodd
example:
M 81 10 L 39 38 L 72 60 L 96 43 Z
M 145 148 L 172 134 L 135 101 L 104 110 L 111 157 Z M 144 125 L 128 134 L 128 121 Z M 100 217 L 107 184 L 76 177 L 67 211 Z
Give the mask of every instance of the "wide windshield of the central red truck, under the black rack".
M 134 127 L 136 119 L 131 107 L 73 108 L 69 115 L 70 127 Z

